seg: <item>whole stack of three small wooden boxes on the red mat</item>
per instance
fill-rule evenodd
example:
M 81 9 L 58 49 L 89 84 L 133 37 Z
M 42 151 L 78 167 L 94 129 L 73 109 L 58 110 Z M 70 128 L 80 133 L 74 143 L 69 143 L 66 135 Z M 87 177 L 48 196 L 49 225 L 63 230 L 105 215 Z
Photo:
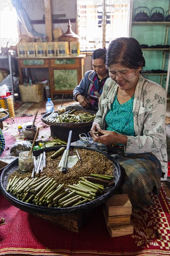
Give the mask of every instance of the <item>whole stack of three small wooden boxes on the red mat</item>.
M 127 194 L 113 195 L 104 205 L 104 216 L 111 237 L 133 234 L 132 205 Z

